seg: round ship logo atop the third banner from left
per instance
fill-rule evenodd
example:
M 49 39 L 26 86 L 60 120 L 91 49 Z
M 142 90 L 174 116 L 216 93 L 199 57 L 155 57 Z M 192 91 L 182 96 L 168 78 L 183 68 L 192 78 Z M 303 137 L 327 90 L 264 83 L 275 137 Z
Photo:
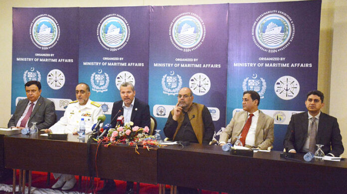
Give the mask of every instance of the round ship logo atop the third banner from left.
M 177 15 L 169 28 L 170 40 L 180 51 L 197 49 L 205 38 L 205 25 L 195 13 L 185 12 Z

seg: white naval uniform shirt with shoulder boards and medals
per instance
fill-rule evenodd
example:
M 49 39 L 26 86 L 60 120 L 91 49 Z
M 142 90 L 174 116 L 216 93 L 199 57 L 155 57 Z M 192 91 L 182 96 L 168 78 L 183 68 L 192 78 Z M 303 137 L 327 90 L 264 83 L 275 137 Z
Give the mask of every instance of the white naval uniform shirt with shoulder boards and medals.
M 67 106 L 64 116 L 49 129 L 52 133 L 73 133 L 79 128 L 81 118 L 84 118 L 87 134 L 92 131 L 93 124 L 98 122 L 98 117 L 101 114 L 101 105 L 90 99 L 83 106 L 77 100 L 72 101 Z

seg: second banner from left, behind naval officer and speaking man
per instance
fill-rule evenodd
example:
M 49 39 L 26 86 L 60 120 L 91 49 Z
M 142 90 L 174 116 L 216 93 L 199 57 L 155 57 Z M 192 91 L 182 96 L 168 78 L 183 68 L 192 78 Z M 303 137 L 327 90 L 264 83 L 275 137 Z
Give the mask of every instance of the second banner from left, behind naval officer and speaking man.
M 91 14 L 92 13 L 92 14 Z M 124 82 L 148 101 L 149 6 L 79 9 L 79 82 L 90 85 L 94 101 L 110 121 Z

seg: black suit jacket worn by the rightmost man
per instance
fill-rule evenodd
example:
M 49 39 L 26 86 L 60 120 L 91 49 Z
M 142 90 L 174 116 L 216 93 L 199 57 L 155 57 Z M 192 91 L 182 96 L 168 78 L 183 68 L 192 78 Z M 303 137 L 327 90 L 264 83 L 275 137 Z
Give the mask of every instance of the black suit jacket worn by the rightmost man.
M 293 114 L 289 122 L 287 133 L 283 141 L 284 148 L 289 151 L 295 149 L 300 152 L 305 144 L 309 127 L 309 115 L 307 112 Z M 293 131 L 293 132 L 292 132 Z M 317 144 L 323 144 L 323 152 L 335 156 L 344 153 L 342 136 L 337 118 L 321 112 L 317 129 Z

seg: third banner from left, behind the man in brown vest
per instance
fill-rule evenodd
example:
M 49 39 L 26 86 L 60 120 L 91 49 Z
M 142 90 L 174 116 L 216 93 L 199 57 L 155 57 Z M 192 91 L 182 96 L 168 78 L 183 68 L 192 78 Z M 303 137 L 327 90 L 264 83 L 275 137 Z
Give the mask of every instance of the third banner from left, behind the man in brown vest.
M 209 108 L 217 130 L 225 126 L 227 15 L 228 4 L 151 6 L 149 105 L 158 129 L 183 87 Z

